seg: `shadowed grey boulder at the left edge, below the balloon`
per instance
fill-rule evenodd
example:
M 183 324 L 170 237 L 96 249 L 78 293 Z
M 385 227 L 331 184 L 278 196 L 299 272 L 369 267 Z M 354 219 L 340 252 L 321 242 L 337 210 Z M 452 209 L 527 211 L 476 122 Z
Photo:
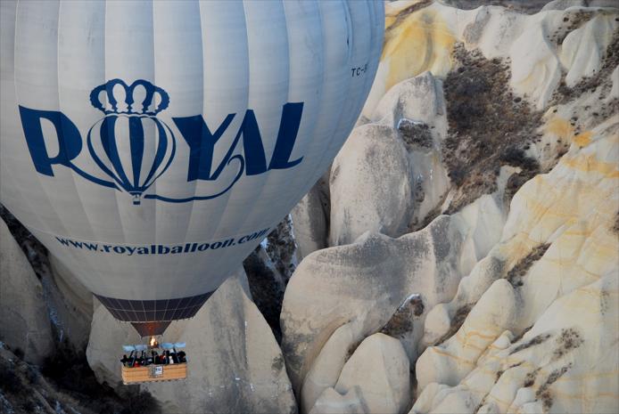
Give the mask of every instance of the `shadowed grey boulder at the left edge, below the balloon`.
M 0 340 L 24 359 L 41 363 L 54 352 L 54 336 L 41 282 L 0 219 Z

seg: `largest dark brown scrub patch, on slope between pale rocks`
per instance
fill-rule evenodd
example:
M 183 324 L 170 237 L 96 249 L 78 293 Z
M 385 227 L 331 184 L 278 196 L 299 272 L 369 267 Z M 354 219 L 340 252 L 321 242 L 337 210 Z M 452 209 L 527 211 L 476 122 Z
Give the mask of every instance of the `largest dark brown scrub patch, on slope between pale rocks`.
M 536 130 L 542 116 L 508 87 L 508 62 L 488 60 L 463 45 L 457 45 L 453 54 L 456 69 L 443 83 L 449 130 L 442 158 L 458 196 L 447 214 L 496 191 L 500 166 L 523 170 L 520 179 L 512 181 L 510 194 L 539 173 L 540 166 L 525 156 L 524 148 L 539 138 Z

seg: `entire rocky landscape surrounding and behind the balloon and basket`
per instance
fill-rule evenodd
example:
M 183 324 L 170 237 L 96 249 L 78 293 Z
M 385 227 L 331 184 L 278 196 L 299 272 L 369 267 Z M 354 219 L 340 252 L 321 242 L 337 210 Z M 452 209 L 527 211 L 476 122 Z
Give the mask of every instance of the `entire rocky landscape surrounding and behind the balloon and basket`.
M 619 10 L 542 3 L 388 4 L 330 170 L 170 326 L 183 383 L 120 386 L 135 332 L 4 212 L 0 410 L 619 411 Z

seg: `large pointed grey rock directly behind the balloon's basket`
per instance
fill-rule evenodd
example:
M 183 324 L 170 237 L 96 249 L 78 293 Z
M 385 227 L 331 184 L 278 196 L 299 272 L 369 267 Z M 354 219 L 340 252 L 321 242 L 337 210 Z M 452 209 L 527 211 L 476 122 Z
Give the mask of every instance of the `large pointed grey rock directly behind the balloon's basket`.
M 240 273 L 194 318 L 173 322 L 165 332 L 166 341 L 186 342 L 189 365 L 185 381 L 144 385 L 164 412 L 296 412 L 284 358 L 248 291 Z M 130 325 L 96 306 L 87 358 L 100 381 L 119 386 L 121 345 L 140 342 Z

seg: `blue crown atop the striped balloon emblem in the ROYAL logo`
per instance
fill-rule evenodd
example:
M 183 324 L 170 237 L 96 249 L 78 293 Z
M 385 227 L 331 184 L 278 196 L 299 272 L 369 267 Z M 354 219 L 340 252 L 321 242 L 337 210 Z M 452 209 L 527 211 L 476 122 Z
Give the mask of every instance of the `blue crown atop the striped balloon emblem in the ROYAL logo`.
M 120 87 L 117 87 L 119 85 Z M 136 101 L 136 96 L 139 95 L 141 97 Z M 157 95 L 160 98 L 159 102 L 155 101 Z M 105 102 L 108 102 L 109 106 Z M 161 87 L 144 79 L 137 79 L 131 85 L 127 85 L 122 79 L 111 79 L 93 89 L 90 93 L 90 103 L 105 115 L 154 116 L 168 108 L 169 96 Z

